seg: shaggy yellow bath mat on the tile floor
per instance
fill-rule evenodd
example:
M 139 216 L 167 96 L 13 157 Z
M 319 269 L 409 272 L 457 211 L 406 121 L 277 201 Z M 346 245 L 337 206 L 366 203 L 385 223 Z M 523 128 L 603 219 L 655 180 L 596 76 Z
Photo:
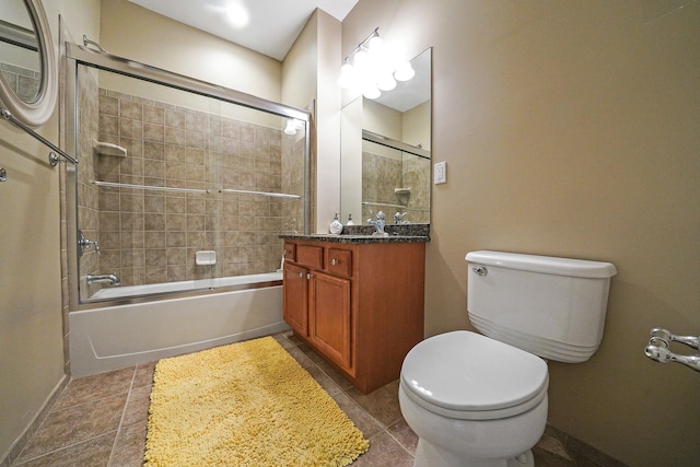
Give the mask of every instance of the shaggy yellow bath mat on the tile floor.
M 144 466 L 332 466 L 369 442 L 271 337 L 161 360 Z

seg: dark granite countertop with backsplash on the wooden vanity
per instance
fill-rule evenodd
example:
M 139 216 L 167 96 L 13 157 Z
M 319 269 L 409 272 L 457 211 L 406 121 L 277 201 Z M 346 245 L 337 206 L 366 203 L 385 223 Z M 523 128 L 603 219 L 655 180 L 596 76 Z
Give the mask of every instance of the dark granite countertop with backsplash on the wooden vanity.
M 430 242 L 430 224 L 401 224 L 387 225 L 385 232 L 388 236 L 372 236 L 372 225 L 346 225 L 342 233 L 334 234 L 282 234 L 280 238 L 320 241 L 346 244 L 361 243 L 425 243 Z

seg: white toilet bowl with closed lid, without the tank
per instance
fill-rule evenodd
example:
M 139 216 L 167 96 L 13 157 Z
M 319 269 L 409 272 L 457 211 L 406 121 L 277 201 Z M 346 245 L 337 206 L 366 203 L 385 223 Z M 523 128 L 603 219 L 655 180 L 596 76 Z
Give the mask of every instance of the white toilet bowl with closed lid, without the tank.
M 547 422 L 547 365 L 523 350 L 453 331 L 404 360 L 399 404 L 418 434 L 416 467 L 533 466 Z

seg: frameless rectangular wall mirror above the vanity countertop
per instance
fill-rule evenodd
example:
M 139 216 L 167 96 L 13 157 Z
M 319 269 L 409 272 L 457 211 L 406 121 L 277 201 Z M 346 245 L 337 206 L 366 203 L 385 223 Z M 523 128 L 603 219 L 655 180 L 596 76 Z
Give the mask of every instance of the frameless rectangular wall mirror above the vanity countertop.
M 342 109 L 340 210 L 343 224 L 429 223 L 431 194 L 431 49 L 411 60 L 416 75 L 380 98 Z

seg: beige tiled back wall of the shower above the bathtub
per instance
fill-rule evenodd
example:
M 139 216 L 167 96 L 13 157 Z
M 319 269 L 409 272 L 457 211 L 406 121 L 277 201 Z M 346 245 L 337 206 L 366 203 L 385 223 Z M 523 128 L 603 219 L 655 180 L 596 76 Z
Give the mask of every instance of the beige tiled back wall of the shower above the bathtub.
M 95 155 L 100 180 L 210 190 L 101 187 L 102 272 L 140 284 L 279 267 L 281 201 L 219 189 L 280 191 L 280 130 L 101 89 L 100 140 L 128 153 Z M 215 266 L 195 264 L 202 249 Z

